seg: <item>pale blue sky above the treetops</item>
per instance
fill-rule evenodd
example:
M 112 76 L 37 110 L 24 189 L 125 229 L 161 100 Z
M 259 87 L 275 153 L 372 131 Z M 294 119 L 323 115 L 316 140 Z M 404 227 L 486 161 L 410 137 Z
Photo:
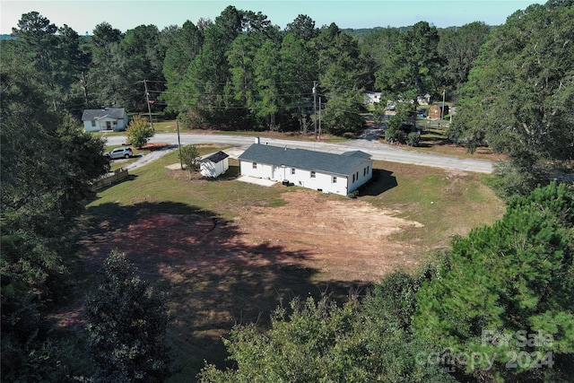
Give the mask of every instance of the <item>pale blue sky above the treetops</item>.
M 403 27 L 429 22 L 438 28 L 463 26 L 469 22 L 503 24 L 517 10 L 546 1 L 527 0 L 0 0 L 0 34 L 9 34 L 23 13 L 38 12 L 61 27 L 78 34 L 91 34 L 95 26 L 108 22 L 126 32 L 139 25 L 159 30 L 182 26 L 200 18 L 215 20 L 228 6 L 261 12 L 282 30 L 299 14 L 308 15 L 321 27 L 335 22 L 341 29 Z

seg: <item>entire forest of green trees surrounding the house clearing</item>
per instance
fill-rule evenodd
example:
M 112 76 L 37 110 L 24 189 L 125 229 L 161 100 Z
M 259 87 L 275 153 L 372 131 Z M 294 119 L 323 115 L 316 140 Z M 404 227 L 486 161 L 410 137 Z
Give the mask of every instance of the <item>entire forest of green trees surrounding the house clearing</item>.
M 571 0 L 517 10 L 500 26 L 417 22 L 361 34 L 304 14 L 281 30 L 228 6 L 213 21 L 126 32 L 102 22 L 79 36 L 30 12 L 0 44 L 2 380 L 147 382 L 177 372 L 161 293 L 117 254 L 86 299 L 82 335 L 59 333 L 46 316 L 79 289 L 80 217 L 91 180 L 107 171 L 105 143 L 78 122 L 83 109 L 150 108 L 187 129 L 288 133 L 313 126 L 318 97 L 322 129 L 344 136 L 364 125 L 364 91 L 397 103 L 387 138 L 419 97 L 455 103 L 450 142 L 508 159 L 489 178 L 506 213 L 361 297 L 301 297 L 265 330 L 234 327 L 224 340 L 233 368 L 207 362 L 197 379 L 573 379 Z M 112 315 L 120 304 L 131 309 Z

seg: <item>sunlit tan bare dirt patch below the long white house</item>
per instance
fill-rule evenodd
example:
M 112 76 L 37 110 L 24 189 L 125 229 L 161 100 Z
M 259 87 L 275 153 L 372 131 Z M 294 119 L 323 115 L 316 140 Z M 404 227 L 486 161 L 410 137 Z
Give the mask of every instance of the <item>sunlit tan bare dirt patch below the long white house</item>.
M 285 193 L 283 198 L 287 205 L 255 208 L 241 222 L 239 239 L 251 246 L 268 243 L 305 254 L 293 261 L 337 281 L 378 282 L 391 269 L 413 265 L 404 257 L 405 245 L 389 240 L 389 235 L 420 223 L 360 200 L 326 200 L 315 191 Z

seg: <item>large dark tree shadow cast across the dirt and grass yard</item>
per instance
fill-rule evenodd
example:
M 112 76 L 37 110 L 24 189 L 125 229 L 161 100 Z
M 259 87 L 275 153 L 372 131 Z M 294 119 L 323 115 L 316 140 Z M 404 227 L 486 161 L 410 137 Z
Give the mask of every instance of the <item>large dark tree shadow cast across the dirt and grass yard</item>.
M 280 302 L 288 306 L 296 296 L 318 299 L 323 293 L 344 301 L 364 287 L 317 283 L 318 271 L 301 265 L 309 254 L 246 243 L 233 222 L 195 206 L 103 204 L 88 214 L 93 229 L 83 240 L 84 273 L 100 274 L 103 260 L 117 248 L 144 279 L 169 294 L 168 334 L 183 368 L 171 382 L 196 381 L 204 361 L 230 367 L 222 336 L 236 324 L 267 326 Z

